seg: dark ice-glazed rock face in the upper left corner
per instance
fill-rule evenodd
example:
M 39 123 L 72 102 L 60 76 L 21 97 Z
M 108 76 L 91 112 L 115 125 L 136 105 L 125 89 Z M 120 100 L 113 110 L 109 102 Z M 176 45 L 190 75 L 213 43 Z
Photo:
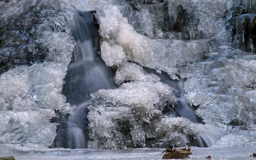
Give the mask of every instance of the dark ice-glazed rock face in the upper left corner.
M 20 0 L 0 5 L 0 73 L 45 60 L 68 65 L 75 46 L 68 26 L 72 12 L 61 2 Z

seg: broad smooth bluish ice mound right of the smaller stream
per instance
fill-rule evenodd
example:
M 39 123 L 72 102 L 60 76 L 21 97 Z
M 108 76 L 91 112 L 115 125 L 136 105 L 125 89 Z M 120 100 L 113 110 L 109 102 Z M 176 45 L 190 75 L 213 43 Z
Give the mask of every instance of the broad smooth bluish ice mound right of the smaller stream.
M 181 70 L 181 76 L 188 77 L 185 97 L 199 106 L 196 113 L 204 122 L 219 126 L 226 133 L 230 125 L 251 128 L 255 122 L 254 67 L 252 55 L 187 66 Z

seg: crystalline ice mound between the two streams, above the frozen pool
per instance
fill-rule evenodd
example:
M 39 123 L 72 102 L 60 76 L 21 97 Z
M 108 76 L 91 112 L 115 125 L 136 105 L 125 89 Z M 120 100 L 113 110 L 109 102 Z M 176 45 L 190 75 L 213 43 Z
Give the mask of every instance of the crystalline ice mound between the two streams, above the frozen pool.
M 177 103 L 172 88 L 160 82 L 131 82 L 119 89 L 93 93 L 89 109 L 90 148 L 140 148 L 146 138 L 158 145 L 187 145 L 204 132 L 186 118 L 162 117 L 166 105 Z M 157 143 L 153 143 L 157 147 Z

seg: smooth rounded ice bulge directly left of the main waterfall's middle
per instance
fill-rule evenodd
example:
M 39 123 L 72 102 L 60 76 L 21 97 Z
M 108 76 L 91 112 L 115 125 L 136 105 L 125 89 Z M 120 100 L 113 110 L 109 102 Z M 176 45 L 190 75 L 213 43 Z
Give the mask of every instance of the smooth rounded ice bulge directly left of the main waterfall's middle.
M 34 64 L 29 68 L 30 92 L 41 107 L 61 109 L 66 97 L 61 94 L 67 67 L 49 62 Z

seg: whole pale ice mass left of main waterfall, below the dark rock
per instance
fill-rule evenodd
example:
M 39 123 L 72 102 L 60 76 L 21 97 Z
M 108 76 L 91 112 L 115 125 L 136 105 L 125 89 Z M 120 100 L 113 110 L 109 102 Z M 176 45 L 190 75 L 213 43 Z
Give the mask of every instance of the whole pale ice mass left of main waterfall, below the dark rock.
M 57 125 L 49 122 L 55 116 L 53 109 L 71 110 L 61 94 L 66 70 L 52 62 L 19 66 L 1 74 L 1 144 L 52 143 Z

